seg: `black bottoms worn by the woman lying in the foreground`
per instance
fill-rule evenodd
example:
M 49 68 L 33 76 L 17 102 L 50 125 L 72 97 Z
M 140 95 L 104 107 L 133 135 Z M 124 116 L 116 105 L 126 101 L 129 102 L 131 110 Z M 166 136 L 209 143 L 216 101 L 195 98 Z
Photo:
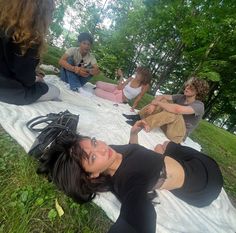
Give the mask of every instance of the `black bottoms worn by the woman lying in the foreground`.
M 223 186 L 223 177 L 215 160 L 173 142 L 167 145 L 165 155 L 178 161 L 185 172 L 183 186 L 171 190 L 175 196 L 197 207 L 207 206 L 218 197 Z

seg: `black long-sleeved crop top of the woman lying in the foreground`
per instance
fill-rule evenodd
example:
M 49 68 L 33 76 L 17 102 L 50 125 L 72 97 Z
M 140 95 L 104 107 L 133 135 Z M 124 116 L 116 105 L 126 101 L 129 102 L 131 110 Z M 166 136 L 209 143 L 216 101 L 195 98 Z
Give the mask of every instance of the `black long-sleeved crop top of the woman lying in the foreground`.
M 109 232 L 155 232 L 156 212 L 147 192 L 157 183 L 164 156 L 137 144 L 111 147 L 123 155 L 112 177 L 114 193 L 122 205 Z

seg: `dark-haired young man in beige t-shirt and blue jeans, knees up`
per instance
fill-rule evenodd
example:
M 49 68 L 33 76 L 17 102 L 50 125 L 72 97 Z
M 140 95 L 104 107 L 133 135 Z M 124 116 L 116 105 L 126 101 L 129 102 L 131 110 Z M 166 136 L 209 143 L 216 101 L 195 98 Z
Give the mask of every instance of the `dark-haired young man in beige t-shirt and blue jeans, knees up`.
M 78 36 L 79 47 L 69 48 L 59 60 L 61 79 L 69 83 L 70 89 L 87 95 L 83 86 L 92 76 L 99 74 L 95 57 L 90 53 L 92 36 L 82 32 Z

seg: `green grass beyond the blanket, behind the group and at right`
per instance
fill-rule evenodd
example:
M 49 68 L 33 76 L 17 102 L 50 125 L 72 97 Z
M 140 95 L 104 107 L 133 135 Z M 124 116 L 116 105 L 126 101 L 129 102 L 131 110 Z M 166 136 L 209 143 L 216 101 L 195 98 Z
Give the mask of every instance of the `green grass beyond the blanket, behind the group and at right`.
M 63 54 L 63 51 L 50 46 L 48 49 L 48 53 L 45 54 L 45 58 L 47 58 L 45 62 L 58 66 L 58 60 Z M 91 82 L 95 84 L 99 80 L 110 83 L 117 82 L 104 77 L 102 72 L 100 75 L 94 77 Z M 145 94 L 137 108 L 141 109 L 150 103 L 152 99 L 152 95 Z M 130 102 L 130 105 L 132 105 L 132 102 Z M 236 199 L 236 136 L 206 121 L 202 121 L 191 135 L 191 138 L 202 146 L 206 154 L 220 164 L 224 175 L 225 189 Z

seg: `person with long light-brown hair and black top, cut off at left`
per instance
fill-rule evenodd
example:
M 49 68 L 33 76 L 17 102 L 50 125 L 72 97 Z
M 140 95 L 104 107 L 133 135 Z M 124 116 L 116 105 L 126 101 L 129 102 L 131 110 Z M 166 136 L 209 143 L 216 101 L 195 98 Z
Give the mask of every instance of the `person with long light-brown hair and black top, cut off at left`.
M 0 101 L 24 105 L 60 95 L 35 71 L 53 10 L 53 0 L 0 0 Z

